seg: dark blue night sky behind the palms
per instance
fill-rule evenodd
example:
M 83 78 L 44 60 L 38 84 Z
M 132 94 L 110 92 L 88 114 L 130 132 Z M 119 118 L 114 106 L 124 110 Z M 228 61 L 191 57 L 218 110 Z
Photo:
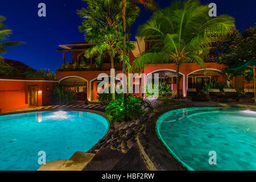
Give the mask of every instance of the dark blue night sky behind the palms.
M 171 0 L 155 0 L 161 8 L 171 4 Z M 38 4 L 46 3 L 47 16 L 39 18 Z M 228 14 L 236 19 L 237 29 L 242 32 L 256 22 L 256 0 L 201 0 L 203 4 L 216 3 L 217 15 Z M 10 48 L 3 55 L 6 59 L 22 61 L 32 68 L 50 68 L 55 71 L 62 63 L 62 53 L 55 49 L 59 44 L 84 41 L 77 27 L 81 19 L 76 10 L 85 7 L 82 0 L 1 0 L 0 15 L 7 20 L 4 24 L 11 30 L 10 40 L 26 42 L 22 46 Z M 142 7 L 141 14 L 132 27 L 134 39 L 137 27 L 150 18 L 151 12 Z M 67 54 L 67 61 L 71 55 Z

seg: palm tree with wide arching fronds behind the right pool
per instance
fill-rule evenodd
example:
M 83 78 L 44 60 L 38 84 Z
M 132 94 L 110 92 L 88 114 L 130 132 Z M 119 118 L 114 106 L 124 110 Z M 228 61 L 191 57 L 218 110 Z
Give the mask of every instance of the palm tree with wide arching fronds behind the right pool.
M 228 15 L 214 18 L 208 15 L 208 6 L 199 1 L 177 1 L 139 27 L 138 33 L 152 46 L 134 61 L 133 70 L 146 64 L 175 63 L 177 96 L 180 97 L 179 67 L 183 63 L 204 65 L 213 39 L 226 36 L 234 30 L 234 19 Z M 205 65 L 204 65 L 205 66 Z

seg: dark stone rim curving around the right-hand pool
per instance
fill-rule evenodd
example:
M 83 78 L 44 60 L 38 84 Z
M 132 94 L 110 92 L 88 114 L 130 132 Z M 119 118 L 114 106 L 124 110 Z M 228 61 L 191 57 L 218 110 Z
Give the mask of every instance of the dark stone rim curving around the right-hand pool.
M 144 141 L 142 148 L 146 152 L 147 158 L 150 159 L 151 163 L 154 164 L 155 168 L 158 170 L 170 170 L 170 171 L 187 171 L 187 167 L 184 167 L 183 164 L 172 155 L 162 140 L 159 139 L 159 136 L 156 132 L 156 122 L 158 118 L 171 110 L 190 108 L 190 107 L 235 107 L 238 109 L 250 109 L 256 110 L 256 105 L 246 105 L 246 104 L 237 104 L 237 103 L 214 103 L 214 102 L 183 102 L 181 101 L 180 105 L 173 106 L 162 106 L 157 108 L 155 111 L 154 117 L 150 118 L 146 123 L 146 131 L 141 136 L 141 139 Z M 168 162 L 166 162 L 168 160 Z

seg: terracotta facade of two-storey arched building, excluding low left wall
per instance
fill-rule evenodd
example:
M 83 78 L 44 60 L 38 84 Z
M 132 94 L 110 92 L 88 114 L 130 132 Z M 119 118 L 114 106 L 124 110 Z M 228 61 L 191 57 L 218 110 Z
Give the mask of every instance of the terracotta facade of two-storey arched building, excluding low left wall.
M 146 50 L 147 47 L 147 43 L 144 42 L 143 39 L 141 38 L 137 38 L 137 42 L 134 42 L 136 49 L 132 52 L 130 52 L 130 64 L 133 64 L 133 61 L 135 60 L 135 58 L 139 55 L 139 53 L 142 53 Z M 72 63 L 75 63 L 77 60 L 80 59 L 80 56 L 83 56 L 83 52 L 86 48 L 88 48 L 88 43 L 84 43 L 84 47 L 82 48 L 82 43 L 73 43 L 73 44 L 67 44 L 67 45 L 60 45 L 60 47 L 62 47 L 63 49 L 57 49 L 60 52 L 71 52 L 72 53 Z M 79 49 L 80 48 L 80 51 Z M 74 50 L 74 51 L 72 51 Z M 88 65 L 93 65 L 94 59 L 91 58 L 90 61 L 88 60 L 89 64 Z M 63 60 L 63 62 L 65 63 L 65 60 Z M 79 62 L 79 61 L 78 61 Z M 192 82 L 196 82 L 198 80 L 198 77 L 200 78 L 204 78 L 204 77 L 209 77 L 210 80 L 212 79 L 216 79 L 218 81 L 224 82 L 225 84 L 228 84 L 225 79 L 224 76 L 222 76 L 220 74 L 220 72 L 226 68 L 225 65 L 221 65 L 221 64 L 217 64 L 217 63 L 205 63 L 206 65 L 206 70 L 208 71 L 212 71 L 212 72 L 216 72 L 216 73 L 212 73 L 212 75 L 207 75 L 204 73 L 200 73 L 200 71 L 204 71 L 203 67 L 200 67 L 199 65 L 195 64 L 195 63 L 187 63 L 187 64 L 182 64 L 180 66 L 180 90 L 182 90 L 181 94 L 183 96 L 186 96 L 186 90 L 189 88 L 189 81 Z M 110 69 L 110 63 L 104 63 L 104 67 L 107 69 Z M 116 68 L 116 67 L 115 67 Z M 120 67 L 118 67 L 118 69 L 115 69 L 115 75 L 117 75 L 118 73 L 121 73 L 121 69 L 119 69 Z M 176 90 L 176 65 L 175 64 L 150 64 L 147 65 L 146 67 L 144 67 L 142 73 L 144 73 L 146 75 L 146 77 L 148 75 L 150 75 L 151 73 L 154 72 L 159 72 L 159 71 L 168 71 L 168 72 L 172 72 L 174 74 L 174 76 L 172 76 L 172 90 Z M 198 71 L 196 76 L 193 76 L 191 74 L 194 74 Z M 57 72 L 57 80 L 58 81 L 62 81 L 65 78 L 68 77 L 79 77 L 82 78 L 83 80 L 85 80 L 87 82 L 86 84 L 86 89 L 87 89 L 87 96 L 88 96 L 88 100 L 89 101 L 94 101 L 96 100 L 96 96 L 97 96 L 97 84 L 96 82 L 93 82 L 97 76 L 100 73 L 106 73 L 108 76 L 110 76 L 110 71 L 106 71 L 106 69 L 104 70 L 83 70 L 83 71 L 77 71 L 76 69 L 69 69 L 69 70 L 59 70 Z M 141 73 L 139 73 L 141 74 Z M 146 86 L 146 82 L 142 83 L 142 79 L 140 78 L 139 81 L 139 87 L 140 87 L 140 92 L 142 90 L 142 87 Z M 139 93 L 138 96 L 143 96 L 142 93 Z

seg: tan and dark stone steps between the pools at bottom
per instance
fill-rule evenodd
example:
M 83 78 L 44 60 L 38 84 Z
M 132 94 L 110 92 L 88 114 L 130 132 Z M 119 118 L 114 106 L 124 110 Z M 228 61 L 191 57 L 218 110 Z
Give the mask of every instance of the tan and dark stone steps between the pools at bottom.
M 147 171 L 138 144 L 123 153 L 101 147 L 96 154 L 76 152 L 68 160 L 54 160 L 42 165 L 38 171 Z

